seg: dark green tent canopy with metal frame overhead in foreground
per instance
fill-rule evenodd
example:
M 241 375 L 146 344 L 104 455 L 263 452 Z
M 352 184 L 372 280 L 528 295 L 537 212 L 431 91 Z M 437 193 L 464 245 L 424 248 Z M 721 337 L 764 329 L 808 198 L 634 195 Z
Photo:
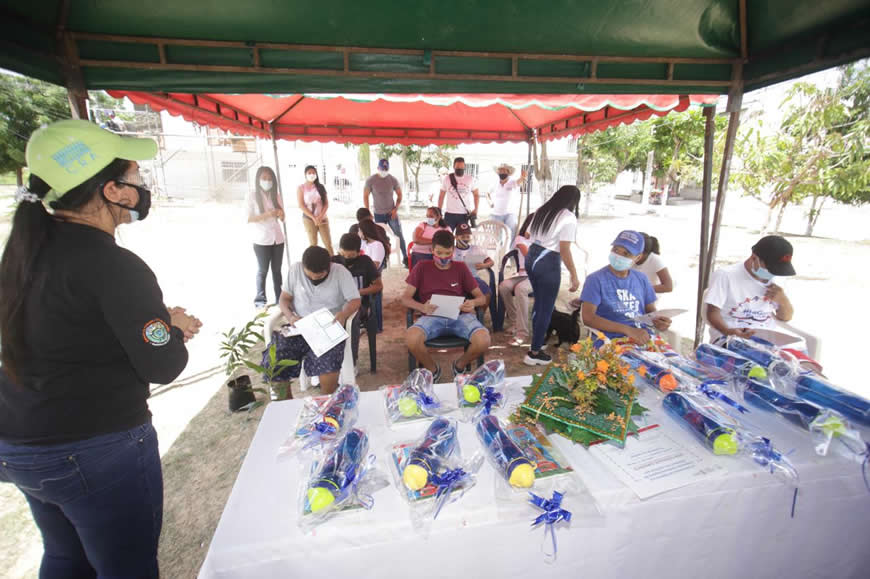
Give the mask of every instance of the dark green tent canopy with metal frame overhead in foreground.
M 147 92 L 723 94 L 868 56 L 868 22 L 868 0 L 0 0 L 0 67 Z

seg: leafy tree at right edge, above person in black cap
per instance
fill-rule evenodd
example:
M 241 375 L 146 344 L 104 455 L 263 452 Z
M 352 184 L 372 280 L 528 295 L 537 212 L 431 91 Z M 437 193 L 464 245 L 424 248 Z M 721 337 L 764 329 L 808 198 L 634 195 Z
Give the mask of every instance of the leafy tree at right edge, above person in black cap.
M 733 175 L 745 194 L 758 196 L 769 211 L 764 229 L 778 210 L 779 231 L 789 205 L 812 198 L 806 235 L 812 235 L 825 201 L 870 202 L 870 69 L 841 69 L 836 87 L 796 83 L 782 103 L 779 130 L 748 128 L 737 143 L 742 168 Z

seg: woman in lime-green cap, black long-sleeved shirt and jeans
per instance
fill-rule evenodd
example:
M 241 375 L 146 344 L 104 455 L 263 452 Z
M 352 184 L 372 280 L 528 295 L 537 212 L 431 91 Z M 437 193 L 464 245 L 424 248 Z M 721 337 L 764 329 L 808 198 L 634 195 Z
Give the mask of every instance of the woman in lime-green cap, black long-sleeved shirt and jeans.
M 157 577 L 163 477 L 146 399 L 202 325 L 115 244 L 145 219 L 150 139 L 79 120 L 36 131 L 0 260 L 0 481 L 42 532 L 40 577 Z M 49 211 L 49 209 L 51 211 Z

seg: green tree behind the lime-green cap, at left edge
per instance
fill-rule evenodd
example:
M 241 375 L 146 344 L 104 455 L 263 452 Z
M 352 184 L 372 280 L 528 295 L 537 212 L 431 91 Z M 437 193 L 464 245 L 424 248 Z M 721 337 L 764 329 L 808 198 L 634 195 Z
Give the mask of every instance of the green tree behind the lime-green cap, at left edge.
M 33 131 L 70 117 L 66 90 L 35 79 L 0 74 L 0 173 L 23 184 L 24 150 Z

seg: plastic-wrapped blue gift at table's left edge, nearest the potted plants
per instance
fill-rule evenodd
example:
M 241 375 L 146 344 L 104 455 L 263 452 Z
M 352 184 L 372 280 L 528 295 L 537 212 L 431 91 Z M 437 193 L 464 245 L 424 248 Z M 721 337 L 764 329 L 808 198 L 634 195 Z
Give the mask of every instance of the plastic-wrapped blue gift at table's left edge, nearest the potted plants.
M 342 384 L 328 397 L 305 401 L 296 428 L 278 449 L 278 456 L 300 450 L 322 451 L 350 430 L 359 417 L 359 388 Z

